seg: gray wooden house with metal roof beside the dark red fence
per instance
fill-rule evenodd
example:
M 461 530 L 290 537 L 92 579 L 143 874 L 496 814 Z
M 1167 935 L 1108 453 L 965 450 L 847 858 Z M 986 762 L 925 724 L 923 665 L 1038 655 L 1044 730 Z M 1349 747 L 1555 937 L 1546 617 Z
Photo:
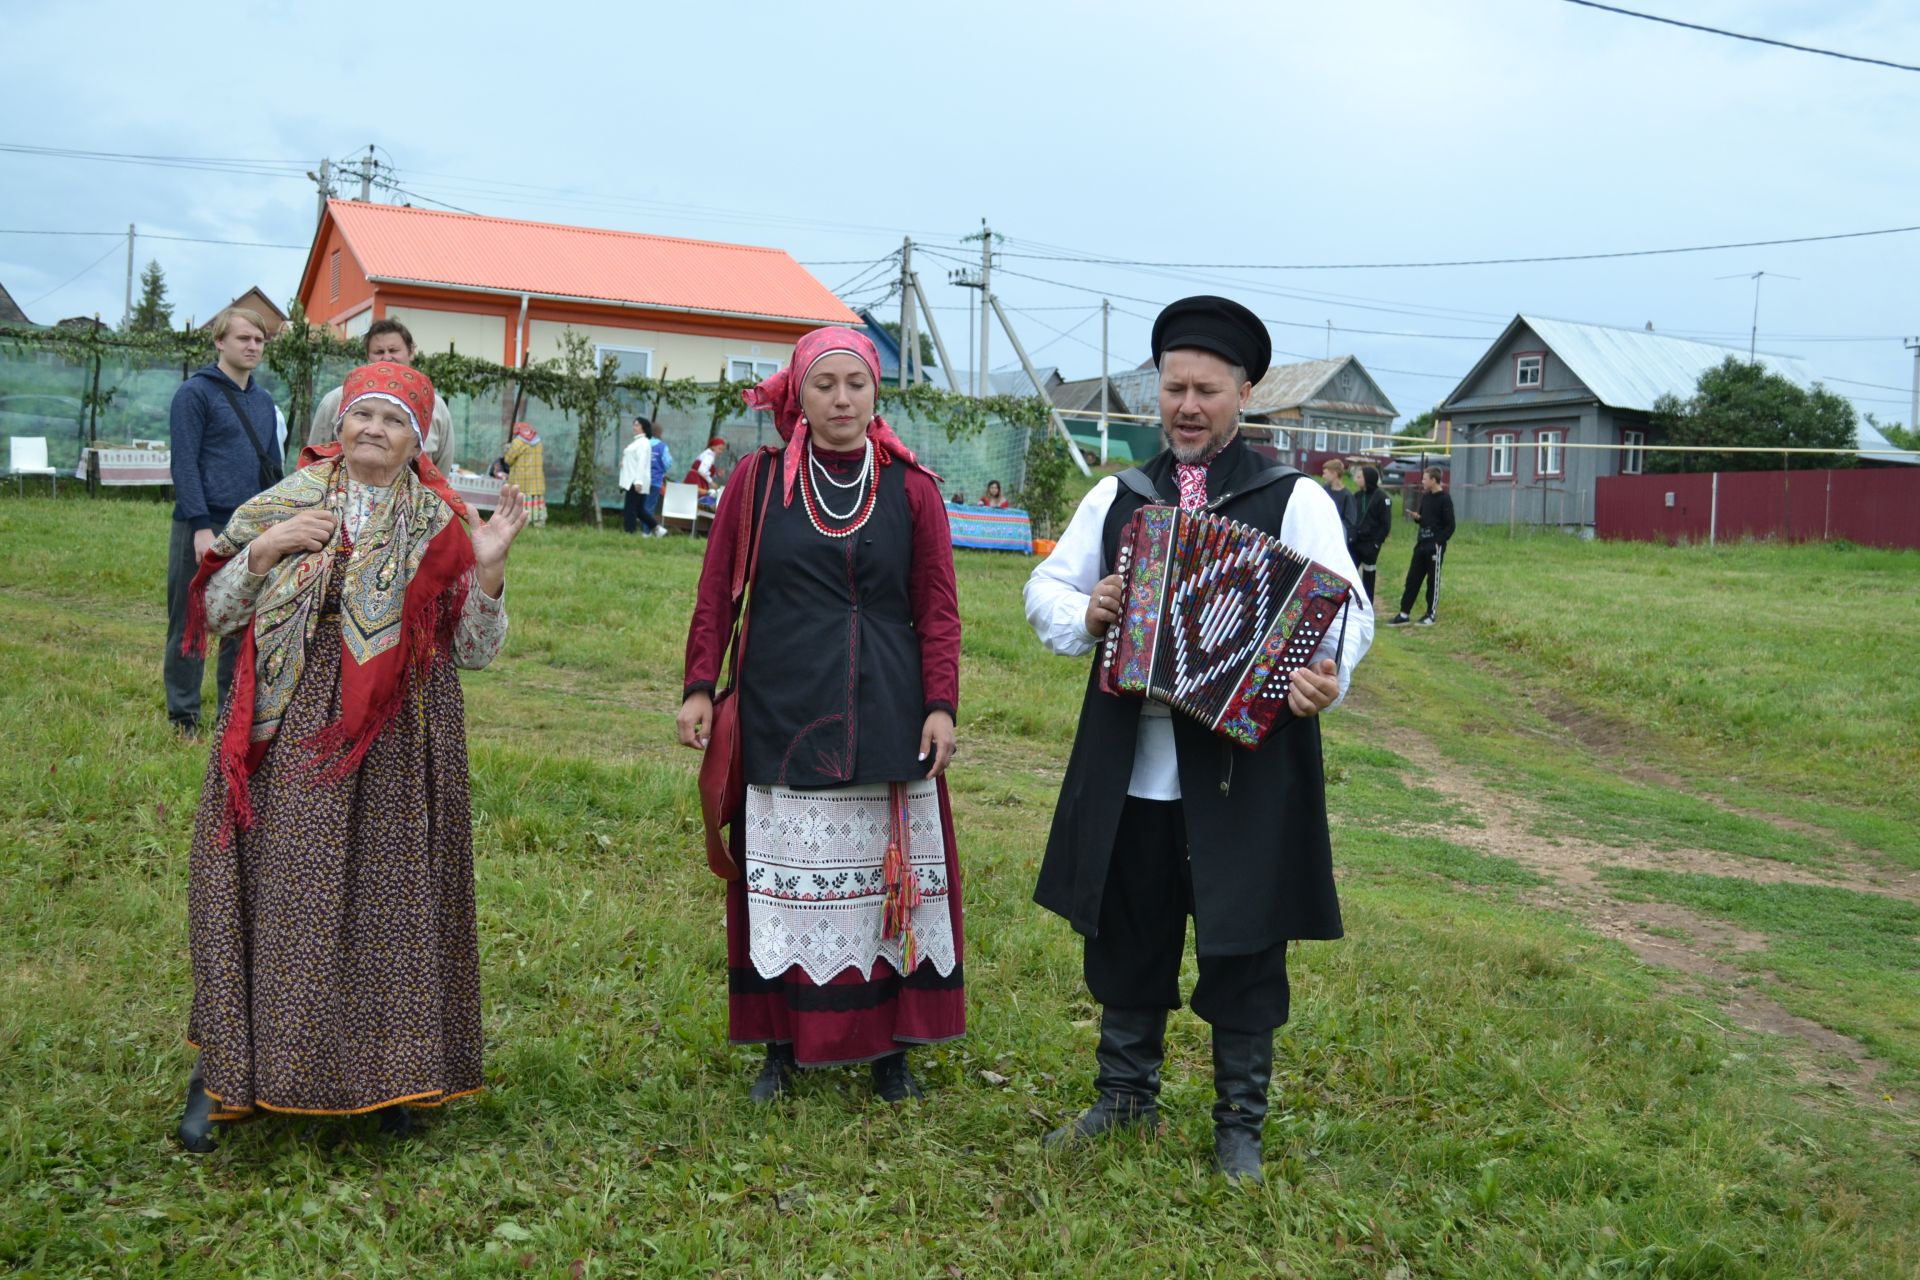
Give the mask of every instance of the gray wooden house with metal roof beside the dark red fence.
M 1453 451 L 1459 520 L 1594 524 L 1594 482 L 1638 474 L 1661 443 L 1653 401 L 1693 393 L 1699 376 L 1745 351 L 1642 328 L 1517 315 L 1436 415 Z M 1793 357 L 1759 363 L 1799 386 Z M 1569 447 L 1574 445 L 1574 447 Z M 1592 447 L 1601 445 L 1601 447 Z

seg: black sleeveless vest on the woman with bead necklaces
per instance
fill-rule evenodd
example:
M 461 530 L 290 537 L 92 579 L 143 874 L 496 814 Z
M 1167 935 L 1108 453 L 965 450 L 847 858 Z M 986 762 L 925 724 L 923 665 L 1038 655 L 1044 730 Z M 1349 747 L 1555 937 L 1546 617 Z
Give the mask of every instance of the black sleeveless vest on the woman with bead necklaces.
M 876 461 L 876 470 L 874 514 L 851 537 L 814 530 L 799 486 L 791 507 L 778 487 L 766 503 L 739 679 L 741 754 L 753 785 L 927 775 L 906 466 Z M 756 510 L 768 484 L 780 486 L 780 455 L 758 466 Z M 837 491 L 831 499 L 845 501 Z

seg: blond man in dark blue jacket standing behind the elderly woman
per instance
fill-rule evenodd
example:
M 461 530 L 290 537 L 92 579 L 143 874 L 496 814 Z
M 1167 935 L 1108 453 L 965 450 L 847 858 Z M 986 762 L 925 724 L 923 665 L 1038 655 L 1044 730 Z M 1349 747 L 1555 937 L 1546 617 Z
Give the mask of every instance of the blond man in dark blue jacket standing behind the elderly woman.
M 234 509 L 280 480 L 286 418 L 253 370 L 267 353 L 267 320 L 257 311 L 228 307 L 213 317 L 217 359 L 173 393 L 173 539 L 167 545 L 167 720 L 182 733 L 200 729 L 202 658 L 180 652 L 186 637 L 186 595 L 213 535 Z M 240 637 L 221 641 L 215 668 L 221 702 L 234 677 Z

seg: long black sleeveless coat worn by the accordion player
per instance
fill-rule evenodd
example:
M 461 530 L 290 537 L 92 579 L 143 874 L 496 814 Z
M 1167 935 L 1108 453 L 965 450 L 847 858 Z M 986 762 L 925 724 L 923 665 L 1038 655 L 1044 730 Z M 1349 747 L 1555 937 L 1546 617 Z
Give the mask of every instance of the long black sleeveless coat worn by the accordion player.
M 1142 470 L 1158 501 L 1179 503 L 1171 453 L 1160 453 Z M 1279 537 L 1286 501 L 1302 482 L 1311 484 L 1233 439 L 1208 468 L 1208 510 Z M 1144 505 L 1146 497 L 1121 486 L 1106 516 L 1102 576 L 1114 572 L 1119 530 Z M 1098 649 L 1092 658 L 1096 664 Z M 1089 938 L 1100 931 L 1100 900 L 1142 706 L 1139 699 L 1100 693 L 1094 664 L 1033 890 L 1035 902 Z M 1288 938 L 1338 938 L 1319 718 L 1288 718 L 1256 750 L 1246 750 L 1175 712 L 1173 748 L 1192 860 L 1198 954 L 1246 956 Z M 1183 908 L 1169 902 L 1167 910 Z

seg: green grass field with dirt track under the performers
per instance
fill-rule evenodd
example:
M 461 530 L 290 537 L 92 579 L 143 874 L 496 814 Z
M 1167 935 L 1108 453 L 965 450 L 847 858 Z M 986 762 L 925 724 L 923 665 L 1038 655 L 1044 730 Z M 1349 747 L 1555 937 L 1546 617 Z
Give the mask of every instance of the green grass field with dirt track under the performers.
M 1325 725 L 1348 938 L 1294 952 L 1246 1192 L 1185 1011 L 1158 1140 L 1039 1148 L 1096 1009 L 1029 902 L 1085 674 L 1027 633 L 1029 562 L 960 558 L 970 1036 L 916 1055 L 924 1105 L 828 1071 L 749 1111 L 670 745 L 699 549 L 576 528 L 516 547 L 465 677 L 492 1088 L 407 1144 L 179 1153 L 205 745 L 159 708 L 165 524 L 0 501 L 12 1272 L 1920 1274 L 1920 557 L 1463 532 L 1444 624 Z

